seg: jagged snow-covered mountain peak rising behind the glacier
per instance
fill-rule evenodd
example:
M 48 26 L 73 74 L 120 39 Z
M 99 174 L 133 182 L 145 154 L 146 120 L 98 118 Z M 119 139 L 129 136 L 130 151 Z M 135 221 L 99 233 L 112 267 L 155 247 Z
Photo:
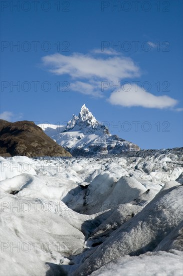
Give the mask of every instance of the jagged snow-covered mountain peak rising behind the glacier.
M 68 124 L 60 129 L 60 133 L 51 137 L 73 156 L 120 154 L 140 150 L 137 145 L 110 134 L 107 126 L 100 124 L 85 104 L 79 115 L 73 115 Z

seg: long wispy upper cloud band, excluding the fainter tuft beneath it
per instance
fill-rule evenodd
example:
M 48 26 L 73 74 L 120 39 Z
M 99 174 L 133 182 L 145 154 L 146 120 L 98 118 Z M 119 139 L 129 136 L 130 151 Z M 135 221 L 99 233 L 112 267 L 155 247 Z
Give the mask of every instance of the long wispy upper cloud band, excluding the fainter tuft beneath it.
M 101 78 L 115 81 L 139 76 L 139 68 L 131 58 L 119 56 L 96 58 L 90 55 L 74 53 L 71 56 L 54 54 L 43 57 L 44 65 L 51 66 L 51 72 L 57 75 L 68 74 L 72 78 Z

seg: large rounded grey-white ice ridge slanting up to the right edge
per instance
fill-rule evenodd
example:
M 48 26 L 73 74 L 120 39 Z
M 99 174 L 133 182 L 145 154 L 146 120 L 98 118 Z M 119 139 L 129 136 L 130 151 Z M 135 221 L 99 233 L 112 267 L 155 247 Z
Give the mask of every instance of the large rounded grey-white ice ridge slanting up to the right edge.
M 73 276 L 90 275 L 99 267 L 124 255 L 138 256 L 152 251 L 175 227 L 178 227 L 178 232 L 182 220 L 182 195 L 182 186 L 160 191 L 141 212 L 99 245 Z M 176 233 L 171 236 L 176 237 Z

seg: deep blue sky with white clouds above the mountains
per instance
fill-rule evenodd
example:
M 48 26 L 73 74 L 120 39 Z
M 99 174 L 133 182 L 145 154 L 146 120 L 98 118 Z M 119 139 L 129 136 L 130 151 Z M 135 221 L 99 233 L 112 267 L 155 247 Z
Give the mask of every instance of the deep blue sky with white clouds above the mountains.
M 181 1 L 35 5 L 1 2 L 2 118 L 62 124 L 85 103 L 142 149 L 182 146 Z

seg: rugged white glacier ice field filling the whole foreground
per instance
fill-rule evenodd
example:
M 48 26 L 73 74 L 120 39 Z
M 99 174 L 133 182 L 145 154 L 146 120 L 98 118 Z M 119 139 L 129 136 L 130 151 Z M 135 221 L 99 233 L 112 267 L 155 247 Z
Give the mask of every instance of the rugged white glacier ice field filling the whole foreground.
M 1 274 L 181 274 L 181 164 L 182 149 L 1 158 Z

